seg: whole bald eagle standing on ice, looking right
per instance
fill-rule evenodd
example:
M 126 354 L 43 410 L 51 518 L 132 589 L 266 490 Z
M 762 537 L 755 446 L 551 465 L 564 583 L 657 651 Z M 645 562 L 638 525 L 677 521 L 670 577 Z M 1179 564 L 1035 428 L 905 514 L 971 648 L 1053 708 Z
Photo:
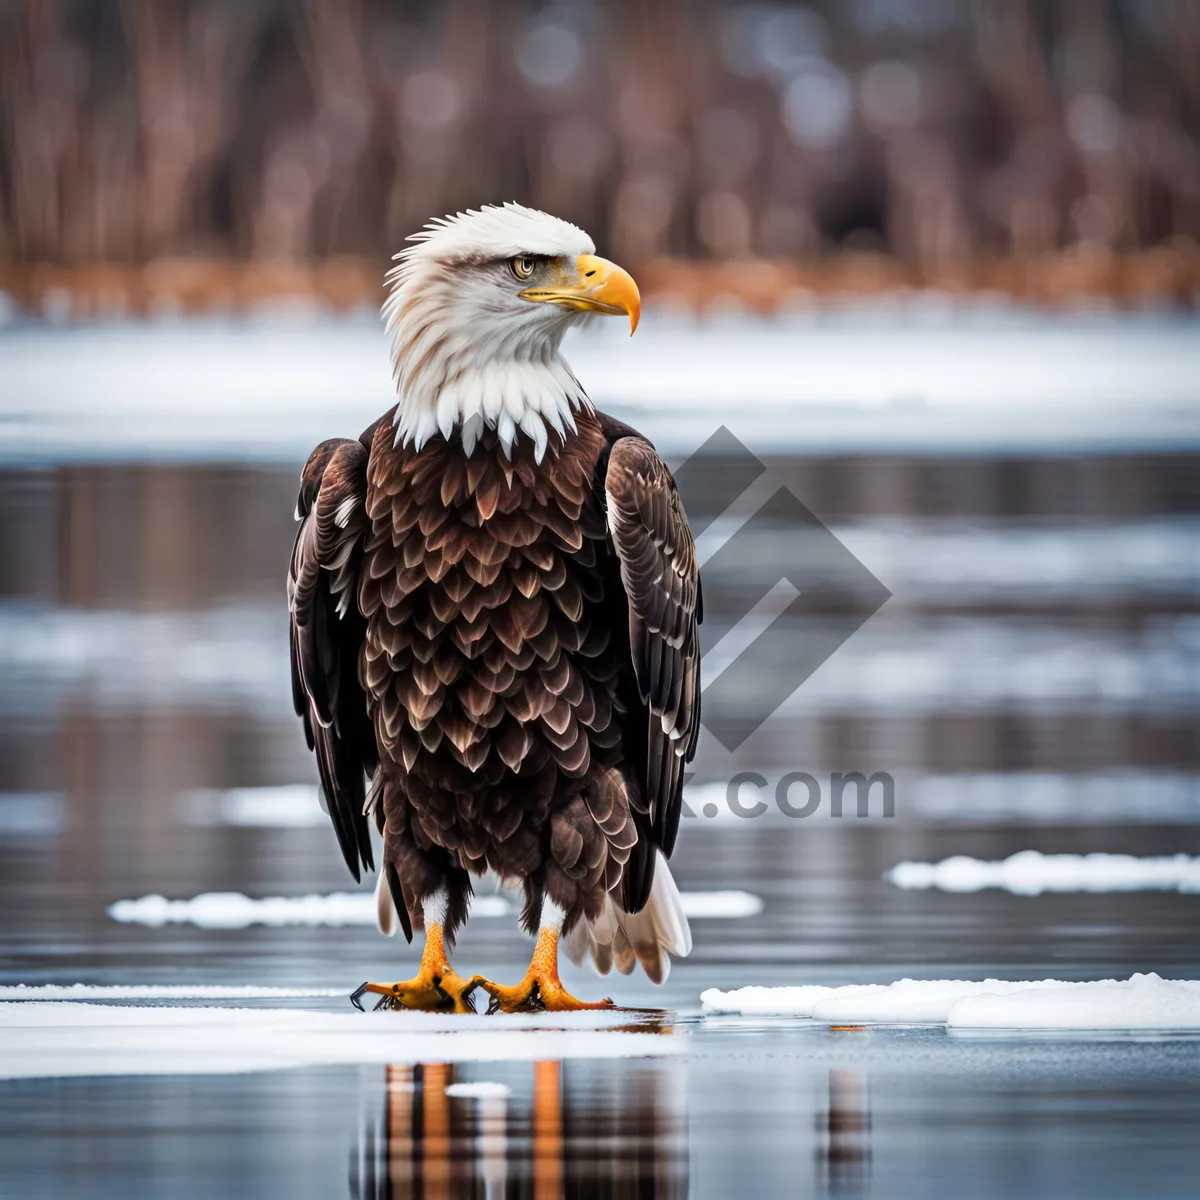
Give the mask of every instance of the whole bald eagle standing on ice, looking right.
M 517 204 L 437 220 L 389 272 L 398 403 L 322 443 L 288 577 L 296 713 L 379 925 L 425 929 L 388 1007 L 565 1010 L 576 962 L 655 983 L 691 935 L 667 869 L 700 728 L 700 574 L 674 480 L 560 352 L 632 278 Z M 451 967 L 472 876 L 523 888 L 515 986 Z M 361 1007 L 361 1006 L 360 1006 Z

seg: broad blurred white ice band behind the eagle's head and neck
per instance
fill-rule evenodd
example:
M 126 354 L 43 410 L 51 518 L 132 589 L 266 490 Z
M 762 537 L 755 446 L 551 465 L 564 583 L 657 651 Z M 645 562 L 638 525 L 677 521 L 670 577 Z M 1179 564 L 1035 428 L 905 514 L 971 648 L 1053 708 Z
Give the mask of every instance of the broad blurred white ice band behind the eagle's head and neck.
M 734 408 L 738 436 L 763 448 L 1145 444 L 1200 432 L 1195 329 L 1192 317 L 1044 312 L 930 325 L 894 307 L 694 322 L 648 306 L 632 341 L 598 325 L 572 335 L 566 356 L 598 404 L 668 451 L 691 449 L 697 428 Z M 253 446 L 302 458 L 394 402 L 373 317 L 14 328 L 0 354 L 8 457 L 242 457 Z M 780 421 L 781 410 L 803 419 Z

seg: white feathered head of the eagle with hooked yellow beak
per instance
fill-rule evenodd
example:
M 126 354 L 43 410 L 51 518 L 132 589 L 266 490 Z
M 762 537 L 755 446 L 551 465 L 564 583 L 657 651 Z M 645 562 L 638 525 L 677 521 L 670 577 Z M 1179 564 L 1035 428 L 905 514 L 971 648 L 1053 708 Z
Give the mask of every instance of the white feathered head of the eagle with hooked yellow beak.
M 505 452 L 527 434 L 540 462 L 550 433 L 564 439 L 572 410 L 590 404 L 559 353 L 563 335 L 586 313 L 626 314 L 632 332 L 637 284 L 582 229 L 520 204 L 431 221 L 408 241 L 383 306 L 397 444 L 420 449 L 461 424 L 469 455 L 492 427 Z

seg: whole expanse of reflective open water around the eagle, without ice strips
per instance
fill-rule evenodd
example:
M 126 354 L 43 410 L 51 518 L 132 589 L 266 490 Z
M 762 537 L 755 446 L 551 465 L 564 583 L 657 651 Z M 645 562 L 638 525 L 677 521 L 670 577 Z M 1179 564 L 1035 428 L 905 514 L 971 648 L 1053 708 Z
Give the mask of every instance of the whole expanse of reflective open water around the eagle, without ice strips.
M 335 416 L 324 432 L 353 432 Z M 695 920 L 695 952 L 660 990 L 564 972 L 581 994 L 673 1009 L 682 1054 L 10 1080 L 0 1194 L 1193 1194 L 1194 1038 L 698 1015 L 703 989 L 748 983 L 1200 976 L 1195 894 L 883 880 L 955 853 L 1200 853 L 1200 450 L 934 437 L 868 451 L 846 449 L 839 420 L 841 449 L 768 464 L 893 596 L 734 751 L 704 738 L 672 864 L 685 890 L 740 889 L 762 912 Z M 407 973 L 413 950 L 361 926 L 107 916 L 148 893 L 353 884 L 328 828 L 264 823 L 282 818 L 253 805 L 235 818 L 220 799 L 313 779 L 281 595 L 294 449 L 180 466 L 175 445 L 126 439 L 114 462 L 47 437 L 0 467 L 0 983 L 348 992 Z M 781 553 L 755 536 L 706 576 L 718 625 L 774 582 L 746 574 Z M 786 659 L 800 643 L 784 635 Z M 766 781 L 762 817 L 730 815 L 737 770 Z M 802 770 L 821 805 L 790 820 L 774 788 Z M 830 775 L 851 770 L 893 776 L 892 818 L 878 793 L 866 818 L 852 793 L 830 816 Z M 481 913 L 456 958 L 508 978 L 527 953 L 510 918 Z M 511 1091 L 446 1093 L 480 1080 Z

